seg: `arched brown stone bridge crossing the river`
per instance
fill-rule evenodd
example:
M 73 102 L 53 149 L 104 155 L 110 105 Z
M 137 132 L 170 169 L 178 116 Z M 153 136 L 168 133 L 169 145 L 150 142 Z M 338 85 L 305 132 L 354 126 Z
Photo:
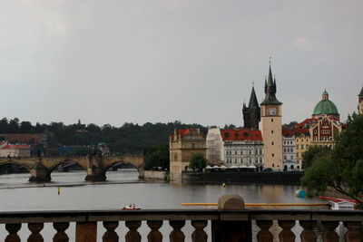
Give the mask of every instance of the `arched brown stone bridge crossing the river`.
M 51 180 L 51 173 L 58 166 L 77 163 L 87 171 L 86 180 L 102 181 L 106 179 L 106 171 L 117 163 L 129 163 L 139 171 L 139 179 L 144 178 L 143 155 L 124 156 L 85 156 L 85 157 L 27 157 L 1 158 L 0 167 L 5 164 L 17 164 L 27 169 L 31 176 L 29 181 L 43 182 Z

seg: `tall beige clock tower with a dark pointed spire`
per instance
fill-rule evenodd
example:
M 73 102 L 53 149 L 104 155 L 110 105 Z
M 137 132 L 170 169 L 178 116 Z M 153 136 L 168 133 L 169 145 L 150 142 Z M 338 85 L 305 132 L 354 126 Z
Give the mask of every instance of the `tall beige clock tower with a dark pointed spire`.
M 276 98 L 276 78 L 265 79 L 265 99 L 260 103 L 261 133 L 263 139 L 264 168 L 282 170 L 281 105 Z

